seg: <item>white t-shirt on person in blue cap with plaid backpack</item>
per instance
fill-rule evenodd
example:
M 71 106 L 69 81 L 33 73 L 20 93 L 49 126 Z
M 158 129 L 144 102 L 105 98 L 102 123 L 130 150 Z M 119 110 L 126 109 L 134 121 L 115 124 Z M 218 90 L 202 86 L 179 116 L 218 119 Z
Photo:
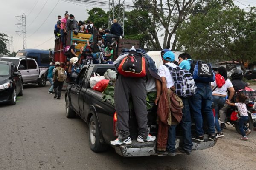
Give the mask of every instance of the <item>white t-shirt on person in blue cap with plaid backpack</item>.
M 177 65 L 175 65 L 175 64 L 173 64 L 171 62 L 168 62 L 167 64 L 169 66 L 171 66 L 172 68 L 176 68 L 177 67 Z M 165 77 L 166 78 L 166 86 L 167 86 L 167 88 L 170 88 L 170 87 L 175 85 L 173 77 L 172 77 L 169 69 L 165 65 L 160 65 L 160 67 L 158 68 L 158 75 L 160 77 Z

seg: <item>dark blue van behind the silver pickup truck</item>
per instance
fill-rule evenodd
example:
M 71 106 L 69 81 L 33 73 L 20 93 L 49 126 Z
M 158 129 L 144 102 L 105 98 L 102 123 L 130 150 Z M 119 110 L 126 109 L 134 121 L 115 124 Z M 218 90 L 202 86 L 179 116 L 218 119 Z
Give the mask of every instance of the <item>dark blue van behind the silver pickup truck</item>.
M 49 67 L 50 62 L 53 62 L 53 51 L 25 49 L 17 52 L 15 57 L 18 58 L 32 58 L 38 63 L 39 67 Z

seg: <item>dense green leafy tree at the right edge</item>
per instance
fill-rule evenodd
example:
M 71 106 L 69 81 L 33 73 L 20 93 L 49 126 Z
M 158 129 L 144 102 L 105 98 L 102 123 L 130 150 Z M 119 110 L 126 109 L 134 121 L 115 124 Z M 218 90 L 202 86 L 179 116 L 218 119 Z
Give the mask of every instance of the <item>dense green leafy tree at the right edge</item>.
M 256 61 L 256 8 L 212 8 L 196 14 L 178 31 L 179 43 L 198 59 L 230 59 L 242 65 Z

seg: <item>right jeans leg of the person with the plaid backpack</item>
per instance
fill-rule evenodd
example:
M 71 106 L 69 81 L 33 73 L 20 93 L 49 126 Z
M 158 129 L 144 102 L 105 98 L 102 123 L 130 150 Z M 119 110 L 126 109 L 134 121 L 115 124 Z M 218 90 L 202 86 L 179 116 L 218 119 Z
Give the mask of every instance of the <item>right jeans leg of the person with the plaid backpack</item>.
M 190 98 L 190 97 L 189 97 Z M 192 149 L 192 139 L 191 139 L 191 115 L 190 115 L 190 108 L 189 108 L 189 98 L 183 98 L 183 109 L 182 109 L 182 119 L 180 125 L 182 127 L 183 132 L 183 150 L 191 151 Z

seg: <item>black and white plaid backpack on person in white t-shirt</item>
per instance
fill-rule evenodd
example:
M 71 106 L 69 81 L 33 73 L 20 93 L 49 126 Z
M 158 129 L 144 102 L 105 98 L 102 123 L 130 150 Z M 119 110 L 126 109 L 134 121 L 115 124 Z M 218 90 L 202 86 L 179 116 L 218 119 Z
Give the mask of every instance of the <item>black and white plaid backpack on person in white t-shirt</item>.
M 188 70 L 183 70 L 180 67 L 172 68 L 168 64 L 164 64 L 170 71 L 175 82 L 175 92 L 178 96 L 189 97 L 193 96 L 197 87 L 192 74 Z

